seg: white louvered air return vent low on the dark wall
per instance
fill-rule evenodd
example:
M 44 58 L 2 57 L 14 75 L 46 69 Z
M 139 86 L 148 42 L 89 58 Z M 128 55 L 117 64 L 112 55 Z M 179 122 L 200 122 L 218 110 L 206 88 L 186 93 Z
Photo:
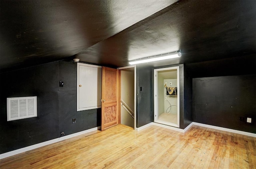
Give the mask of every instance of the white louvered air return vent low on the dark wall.
M 36 96 L 7 98 L 7 121 L 37 116 Z

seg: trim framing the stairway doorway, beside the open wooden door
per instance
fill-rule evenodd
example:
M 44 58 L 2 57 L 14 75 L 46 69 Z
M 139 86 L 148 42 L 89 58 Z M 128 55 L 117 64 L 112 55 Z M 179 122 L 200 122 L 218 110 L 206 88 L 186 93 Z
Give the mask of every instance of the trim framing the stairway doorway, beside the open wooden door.
M 136 126 L 137 126 L 137 123 L 136 123 L 136 119 L 137 119 L 137 107 L 136 107 L 136 98 L 137 98 L 137 86 L 136 86 L 136 65 L 131 65 L 131 66 L 125 66 L 125 67 L 118 67 L 117 69 L 118 69 L 118 71 L 119 71 L 119 100 L 121 100 L 121 83 L 120 83 L 120 81 L 121 81 L 121 73 L 120 73 L 120 71 L 122 70 L 122 69 L 129 69 L 129 68 L 134 68 L 134 130 L 137 128 Z M 118 105 L 119 105 L 119 124 L 121 124 L 121 103 L 120 103 L 120 101 L 119 101 L 119 103 L 118 103 Z

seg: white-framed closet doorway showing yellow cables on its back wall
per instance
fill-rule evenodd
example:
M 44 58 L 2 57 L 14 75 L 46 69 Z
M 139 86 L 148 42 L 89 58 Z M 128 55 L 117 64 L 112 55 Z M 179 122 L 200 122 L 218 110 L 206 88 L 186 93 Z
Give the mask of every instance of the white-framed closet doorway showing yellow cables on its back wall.
M 154 69 L 154 122 L 180 127 L 179 67 Z

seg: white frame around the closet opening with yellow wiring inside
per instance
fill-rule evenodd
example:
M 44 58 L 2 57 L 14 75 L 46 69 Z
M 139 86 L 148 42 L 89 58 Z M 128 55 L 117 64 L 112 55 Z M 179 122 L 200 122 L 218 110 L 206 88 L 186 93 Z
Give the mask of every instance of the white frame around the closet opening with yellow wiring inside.
M 166 71 L 166 70 L 177 70 L 177 124 L 174 123 L 168 123 L 168 122 L 163 122 L 160 120 L 157 120 L 158 117 L 158 71 Z M 154 69 L 154 122 L 161 123 L 161 124 L 166 124 L 168 126 L 174 126 L 174 127 L 180 127 L 180 71 L 179 71 L 179 66 L 174 66 L 174 67 L 166 67 L 166 68 L 160 68 L 160 69 Z

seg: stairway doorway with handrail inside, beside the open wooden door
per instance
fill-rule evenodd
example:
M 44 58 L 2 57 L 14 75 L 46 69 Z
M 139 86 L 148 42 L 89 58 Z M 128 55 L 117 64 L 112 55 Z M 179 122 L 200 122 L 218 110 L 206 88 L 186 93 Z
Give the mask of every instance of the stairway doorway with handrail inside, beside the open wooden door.
M 136 67 L 120 67 L 120 124 L 136 128 Z

